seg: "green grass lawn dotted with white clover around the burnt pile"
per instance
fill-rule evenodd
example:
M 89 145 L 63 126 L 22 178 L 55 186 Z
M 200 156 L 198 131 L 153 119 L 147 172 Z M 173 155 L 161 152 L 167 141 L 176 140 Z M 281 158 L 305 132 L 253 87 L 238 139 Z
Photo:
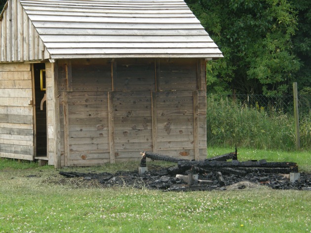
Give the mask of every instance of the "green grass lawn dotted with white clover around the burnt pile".
M 208 157 L 231 151 L 211 148 Z M 310 154 L 305 152 L 238 152 L 241 161 L 296 162 L 303 171 L 311 170 Z M 137 162 L 62 168 L 82 172 L 135 169 Z M 311 233 L 310 191 L 103 189 L 88 187 L 89 181 L 84 186 L 61 183 L 58 173 L 52 166 L 0 160 L 0 233 Z

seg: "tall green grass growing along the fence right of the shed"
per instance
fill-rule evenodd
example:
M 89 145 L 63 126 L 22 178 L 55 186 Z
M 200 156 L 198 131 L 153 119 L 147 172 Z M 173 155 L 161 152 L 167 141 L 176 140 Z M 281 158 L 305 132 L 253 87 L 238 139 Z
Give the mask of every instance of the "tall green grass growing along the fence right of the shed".
M 295 150 L 294 117 L 276 109 L 207 97 L 208 146 Z M 311 112 L 300 119 L 301 148 L 311 149 Z

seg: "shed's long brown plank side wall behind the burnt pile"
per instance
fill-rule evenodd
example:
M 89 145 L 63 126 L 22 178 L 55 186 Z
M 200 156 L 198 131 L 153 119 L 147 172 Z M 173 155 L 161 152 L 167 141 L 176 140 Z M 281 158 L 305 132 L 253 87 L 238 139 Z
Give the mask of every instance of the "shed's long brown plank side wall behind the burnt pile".
M 206 157 L 201 59 L 61 60 L 61 165 L 139 159 L 140 150 Z

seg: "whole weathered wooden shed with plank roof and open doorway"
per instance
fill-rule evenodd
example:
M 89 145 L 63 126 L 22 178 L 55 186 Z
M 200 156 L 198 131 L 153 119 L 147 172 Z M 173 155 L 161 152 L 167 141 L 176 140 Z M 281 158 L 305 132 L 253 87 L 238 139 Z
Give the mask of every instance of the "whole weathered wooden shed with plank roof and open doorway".
M 0 23 L 0 157 L 206 157 L 205 65 L 223 56 L 183 0 L 8 0 Z

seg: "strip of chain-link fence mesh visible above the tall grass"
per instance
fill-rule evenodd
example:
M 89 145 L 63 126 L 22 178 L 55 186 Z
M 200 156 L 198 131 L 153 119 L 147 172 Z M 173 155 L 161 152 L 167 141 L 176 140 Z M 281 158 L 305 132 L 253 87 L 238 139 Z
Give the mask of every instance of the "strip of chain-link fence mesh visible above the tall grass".
M 267 113 L 282 112 L 294 115 L 293 95 L 264 96 L 264 95 L 221 95 L 222 98 L 229 98 L 234 102 L 241 103 L 249 108 L 265 110 Z M 311 95 L 298 95 L 299 114 L 310 114 Z

